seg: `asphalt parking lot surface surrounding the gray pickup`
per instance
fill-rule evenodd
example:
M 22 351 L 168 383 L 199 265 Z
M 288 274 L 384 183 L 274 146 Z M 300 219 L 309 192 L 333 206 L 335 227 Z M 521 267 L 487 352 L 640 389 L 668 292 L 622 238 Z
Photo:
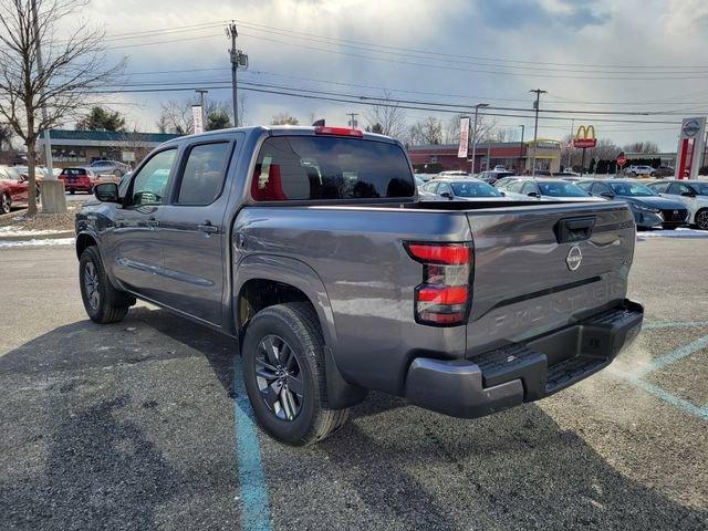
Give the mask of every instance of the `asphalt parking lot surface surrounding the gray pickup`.
M 91 323 L 72 247 L 0 268 L 0 529 L 708 528 L 706 240 L 637 243 L 645 330 L 580 385 L 476 420 L 372 395 L 305 449 L 253 427 L 230 340 Z

